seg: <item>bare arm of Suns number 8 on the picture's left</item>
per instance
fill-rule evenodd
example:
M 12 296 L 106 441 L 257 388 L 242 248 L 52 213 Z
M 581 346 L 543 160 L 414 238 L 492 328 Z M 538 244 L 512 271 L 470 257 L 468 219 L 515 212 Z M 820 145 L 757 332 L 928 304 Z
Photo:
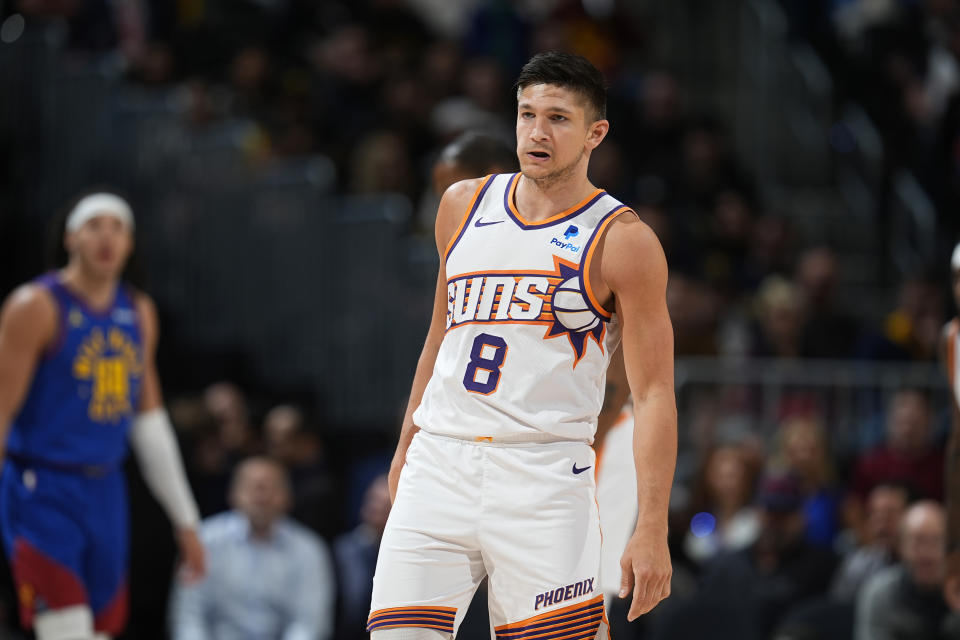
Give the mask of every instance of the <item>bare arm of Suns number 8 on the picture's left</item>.
M 433 366 L 437 361 L 437 353 L 440 351 L 440 343 L 443 342 L 443 334 L 447 326 L 447 272 L 444 264 L 444 257 L 447 247 L 450 245 L 461 223 L 464 221 L 467 208 L 477 189 L 482 183 L 482 179 L 463 180 L 454 183 L 448 188 L 440 199 L 440 206 L 437 209 L 437 222 L 434 228 L 434 235 L 437 242 L 437 251 L 440 254 L 440 269 L 437 273 L 437 290 L 433 299 L 433 315 L 430 318 L 430 329 L 427 331 L 426 340 L 423 343 L 423 349 L 420 352 L 420 359 L 417 361 L 417 370 L 413 377 L 413 385 L 410 389 L 410 399 L 407 401 L 407 410 L 403 416 L 403 426 L 400 428 L 400 440 L 397 443 L 397 451 L 393 456 L 393 462 L 390 464 L 390 501 L 397 497 L 397 485 L 400 483 L 400 471 L 403 469 L 406 461 L 407 448 L 414 434 L 419 431 L 419 427 L 413 424 L 413 412 L 420 406 L 423 399 L 423 391 L 430 381 L 433 373 Z

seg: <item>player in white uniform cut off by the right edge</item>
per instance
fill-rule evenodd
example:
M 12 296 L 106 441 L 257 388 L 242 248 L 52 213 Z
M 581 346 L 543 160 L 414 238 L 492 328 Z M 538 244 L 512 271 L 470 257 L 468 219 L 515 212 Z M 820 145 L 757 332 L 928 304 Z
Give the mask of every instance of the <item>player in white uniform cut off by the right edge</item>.
M 960 243 L 950 258 L 950 277 L 953 299 L 960 311 Z M 947 577 L 943 593 L 950 608 L 960 611 L 960 316 L 944 326 L 940 354 L 953 399 L 944 482 L 947 495 Z

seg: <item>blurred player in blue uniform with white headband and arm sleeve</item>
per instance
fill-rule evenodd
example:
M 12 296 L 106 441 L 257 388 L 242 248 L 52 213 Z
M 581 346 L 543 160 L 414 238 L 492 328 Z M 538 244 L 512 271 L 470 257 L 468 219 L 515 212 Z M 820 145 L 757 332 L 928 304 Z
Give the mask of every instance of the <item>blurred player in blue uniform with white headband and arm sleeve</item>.
M 127 611 L 129 446 L 177 527 L 185 569 L 204 572 L 197 508 L 162 409 L 152 301 L 120 279 L 133 214 L 95 193 L 71 210 L 65 268 L 0 312 L 0 526 L 38 640 L 108 638 Z

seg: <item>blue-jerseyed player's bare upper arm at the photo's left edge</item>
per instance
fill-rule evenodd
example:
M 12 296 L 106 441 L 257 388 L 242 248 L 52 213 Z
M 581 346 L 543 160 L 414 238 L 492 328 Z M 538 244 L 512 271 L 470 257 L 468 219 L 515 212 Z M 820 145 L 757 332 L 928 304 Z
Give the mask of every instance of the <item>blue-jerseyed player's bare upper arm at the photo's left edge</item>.
M 57 335 L 57 306 L 42 287 L 24 285 L 0 310 L 0 466 L 13 416 L 30 388 L 37 362 Z

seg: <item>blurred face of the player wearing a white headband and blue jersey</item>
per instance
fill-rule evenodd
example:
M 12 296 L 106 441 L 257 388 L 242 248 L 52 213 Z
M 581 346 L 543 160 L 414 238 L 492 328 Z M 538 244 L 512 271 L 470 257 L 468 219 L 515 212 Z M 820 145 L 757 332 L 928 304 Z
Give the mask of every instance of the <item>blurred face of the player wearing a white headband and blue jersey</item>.
M 133 251 L 130 227 L 115 216 L 95 216 L 76 231 L 67 233 L 70 260 L 101 278 L 118 278 Z

